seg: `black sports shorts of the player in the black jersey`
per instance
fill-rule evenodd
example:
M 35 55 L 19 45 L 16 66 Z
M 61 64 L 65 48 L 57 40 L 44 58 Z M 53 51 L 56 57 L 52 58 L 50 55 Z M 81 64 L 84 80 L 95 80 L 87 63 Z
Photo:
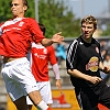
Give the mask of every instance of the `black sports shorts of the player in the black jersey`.
M 81 88 L 80 92 L 84 110 L 99 110 L 98 103 L 110 109 L 110 87 L 105 81 L 100 81 L 92 88 Z

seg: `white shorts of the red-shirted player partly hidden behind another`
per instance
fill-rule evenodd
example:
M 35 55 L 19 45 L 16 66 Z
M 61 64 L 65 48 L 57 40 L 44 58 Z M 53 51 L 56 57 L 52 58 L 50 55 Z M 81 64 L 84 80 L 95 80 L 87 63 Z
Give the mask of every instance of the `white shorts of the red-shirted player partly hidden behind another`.
M 43 101 L 46 102 L 47 105 L 53 103 L 51 82 L 50 81 L 37 81 L 36 84 L 37 84 L 38 91 L 42 96 Z M 29 96 L 26 97 L 26 103 L 33 105 L 32 101 L 30 100 Z

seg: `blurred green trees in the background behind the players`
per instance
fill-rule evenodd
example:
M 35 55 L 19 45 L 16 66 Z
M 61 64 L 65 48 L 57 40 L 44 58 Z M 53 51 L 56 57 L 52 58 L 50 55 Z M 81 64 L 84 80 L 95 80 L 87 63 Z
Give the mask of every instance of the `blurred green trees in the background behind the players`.
M 35 19 L 35 1 L 28 0 L 29 9 L 25 16 Z M 0 0 L 0 22 L 11 19 L 11 0 Z M 38 0 L 38 22 L 46 26 L 46 36 L 52 37 L 56 32 L 63 32 L 65 37 L 80 35 L 80 19 L 76 19 L 73 10 L 64 0 Z M 108 26 L 110 29 L 110 25 Z M 110 35 L 109 30 L 106 35 Z M 102 35 L 105 35 L 105 33 Z

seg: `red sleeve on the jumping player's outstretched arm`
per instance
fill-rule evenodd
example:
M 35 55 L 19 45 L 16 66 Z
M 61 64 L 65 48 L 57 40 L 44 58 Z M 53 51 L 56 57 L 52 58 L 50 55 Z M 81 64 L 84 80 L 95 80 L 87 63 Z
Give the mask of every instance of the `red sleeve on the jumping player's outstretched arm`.
M 35 43 L 41 42 L 43 38 L 45 38 L 42 31 L 40 30 L 37 22 L 34 19 L 29 19 L 29 28 L 30 28 L 33 41 Z

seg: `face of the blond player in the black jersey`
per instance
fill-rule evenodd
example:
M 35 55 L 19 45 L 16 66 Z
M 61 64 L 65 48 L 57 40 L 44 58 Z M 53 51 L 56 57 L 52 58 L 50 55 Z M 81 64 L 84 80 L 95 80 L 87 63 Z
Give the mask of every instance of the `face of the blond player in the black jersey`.
M 95 31 L 96 29 L 94 28 L 94 24 L 86 22 L 81 24 L 81 32 L 85 38 L 91 38 Z

